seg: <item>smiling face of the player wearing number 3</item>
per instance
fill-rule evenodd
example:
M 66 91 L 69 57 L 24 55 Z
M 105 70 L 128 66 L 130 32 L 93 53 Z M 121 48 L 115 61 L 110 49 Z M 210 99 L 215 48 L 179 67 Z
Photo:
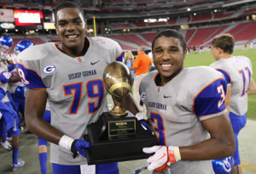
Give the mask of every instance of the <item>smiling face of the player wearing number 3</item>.
M 183 51 L 179 39 L 173 36 L 160 36 L 154 41 L 154 65 L 160 72 L 162 86 L 183 70 L 186 53 L 187 50 Z

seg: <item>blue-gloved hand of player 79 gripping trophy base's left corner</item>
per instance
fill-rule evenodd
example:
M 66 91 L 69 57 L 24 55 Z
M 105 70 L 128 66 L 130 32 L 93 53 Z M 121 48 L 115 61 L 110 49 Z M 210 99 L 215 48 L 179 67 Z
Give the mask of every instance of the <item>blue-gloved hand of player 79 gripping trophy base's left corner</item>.
M 81 154 L 85 158 L 87 157 L 85 149 L 90 148 L 90 143 L 84 141 L 83 139 L 75 139 L 71 146 L 71 151 L 73 152 L 73 158 L 77 156 L 77 154 Z

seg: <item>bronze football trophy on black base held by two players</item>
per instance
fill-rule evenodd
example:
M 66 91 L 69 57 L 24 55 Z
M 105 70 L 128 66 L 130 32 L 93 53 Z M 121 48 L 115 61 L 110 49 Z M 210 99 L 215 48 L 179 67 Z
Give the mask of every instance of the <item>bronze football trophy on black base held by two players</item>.
M 104 70 L 103 81 L 114 106 L 88 126 L 85 137 L 91 145 L 86 149 L 88 164 L 148 158 L 150 154 L 144 154 L 143 148 L 158 144 L 158 140 L 122 106 L 123 98 L 131 91 L 130 70 L 123 63 L 113 62 Z

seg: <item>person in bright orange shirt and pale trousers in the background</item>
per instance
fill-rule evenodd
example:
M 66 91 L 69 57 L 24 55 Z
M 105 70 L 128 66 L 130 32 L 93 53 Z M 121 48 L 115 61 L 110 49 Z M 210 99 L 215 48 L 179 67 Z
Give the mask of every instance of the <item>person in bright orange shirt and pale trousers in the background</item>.
M 143 80 L 143 77 L 147 75 L 151 65 L 152 62 L 148 55 L 145 53 L 144 46 L 137 48 L 137 57 L 134 60 L 132 67 L 129 69 L 134 70 L 135 79 L 133 83 L 133 98 L 135 99 L 138 108 L 140 108 L 140 83 Z

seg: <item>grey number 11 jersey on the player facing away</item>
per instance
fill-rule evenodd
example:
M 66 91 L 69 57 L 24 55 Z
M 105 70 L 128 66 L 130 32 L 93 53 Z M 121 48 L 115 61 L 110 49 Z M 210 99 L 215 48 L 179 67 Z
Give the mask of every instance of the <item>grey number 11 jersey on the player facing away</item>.
M 230 112 L 245 115 L 248 108 L 247 89 L 253 76 L 251 60 L 244 56 L 232 56 L 218 59 L 210 66 L 222 72 L 228 86 L 231 86 Z

